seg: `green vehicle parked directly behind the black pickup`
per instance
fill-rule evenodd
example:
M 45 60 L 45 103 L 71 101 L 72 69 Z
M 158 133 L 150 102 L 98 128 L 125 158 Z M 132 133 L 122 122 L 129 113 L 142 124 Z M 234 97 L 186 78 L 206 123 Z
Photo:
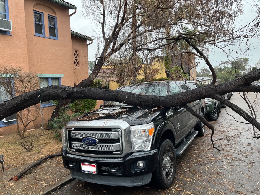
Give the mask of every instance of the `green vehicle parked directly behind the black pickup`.
M 211 121 L 216 121 L 219 117 L 219 113 L 221 112 L 220 101 L 211 98 L 206 98 L 204 101 L 207 118 Z

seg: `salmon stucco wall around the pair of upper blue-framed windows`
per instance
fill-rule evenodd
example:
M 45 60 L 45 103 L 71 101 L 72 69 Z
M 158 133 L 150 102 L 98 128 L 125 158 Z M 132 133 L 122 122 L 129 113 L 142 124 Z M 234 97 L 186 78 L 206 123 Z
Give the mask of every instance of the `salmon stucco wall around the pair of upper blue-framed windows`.
M 44 0 L 26 0 L 24 7 L 30 71 L 38 74 L 64 74 L 61 84 L 74 86 L 69 9 Z M 48 14 L 57 17 L 59 40 L 34 35 L 33 10 L 44 15 L 46 37 L 49 37 Z

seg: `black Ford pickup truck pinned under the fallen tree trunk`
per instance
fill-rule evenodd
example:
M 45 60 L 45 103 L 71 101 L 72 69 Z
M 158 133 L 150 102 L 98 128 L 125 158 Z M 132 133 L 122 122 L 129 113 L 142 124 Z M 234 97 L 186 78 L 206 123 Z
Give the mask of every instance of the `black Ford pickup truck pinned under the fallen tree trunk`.
M 193 81 L 160 81 L 120 87 L 144 95 L 175 95 L 196 88 Z M 204 100 L 189 103 L 204 116 Z M 183 107 L 131 106 L 105 101 L 102 108 L 71 120 L 62 129 L 62 159 L 71 176 L 113 186 L 154 181 L 169 188 L 180 156 L 204 124 Z

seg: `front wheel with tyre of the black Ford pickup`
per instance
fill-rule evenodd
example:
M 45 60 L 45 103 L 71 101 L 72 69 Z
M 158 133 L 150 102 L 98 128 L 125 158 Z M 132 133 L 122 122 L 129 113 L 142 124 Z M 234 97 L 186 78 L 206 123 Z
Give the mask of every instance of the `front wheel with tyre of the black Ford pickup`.
M 176 173 L 176 153 L 173 143 L 169 139 L 161 139 L 158 152 L 152 181 L 158 188 L 168 189 L 173 184 Z

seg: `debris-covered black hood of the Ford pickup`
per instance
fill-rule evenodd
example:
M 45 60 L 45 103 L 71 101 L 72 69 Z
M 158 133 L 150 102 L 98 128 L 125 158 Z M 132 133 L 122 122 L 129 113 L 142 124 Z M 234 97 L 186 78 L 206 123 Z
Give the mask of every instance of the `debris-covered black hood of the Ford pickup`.
M 165 115 L 166 108 L 160 107 L 138 107 L 138 106 L 122 106 L 100 108 L 98 110 L 88 112 L 78 116 L 71 121 L 93 121 L 100 119 L 123 120 L 129 125 L 147 124 L 155 121 L 157 116 Z

